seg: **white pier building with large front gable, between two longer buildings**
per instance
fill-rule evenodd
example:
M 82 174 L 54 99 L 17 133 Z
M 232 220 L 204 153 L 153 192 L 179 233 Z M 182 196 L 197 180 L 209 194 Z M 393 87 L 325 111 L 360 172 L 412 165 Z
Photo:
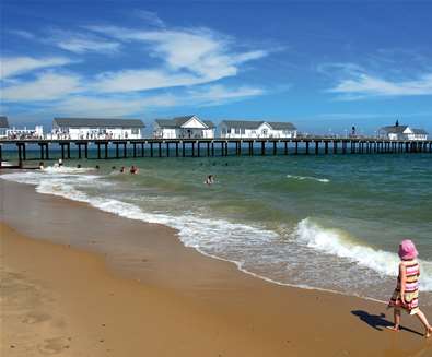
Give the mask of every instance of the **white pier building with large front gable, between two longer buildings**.
M 213 139 L 214 124 L 197 116 L 156 119 L 153 135 L 157 139 Z

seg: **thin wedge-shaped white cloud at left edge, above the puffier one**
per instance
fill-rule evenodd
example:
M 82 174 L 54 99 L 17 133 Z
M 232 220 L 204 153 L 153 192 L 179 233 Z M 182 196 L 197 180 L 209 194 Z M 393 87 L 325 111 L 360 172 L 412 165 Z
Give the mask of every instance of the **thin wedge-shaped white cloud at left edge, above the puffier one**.
M 60 67 L 72 61 L 63 57 L 3 57 L 0 59 L 1 79 L 23 74 L 37 69 Z

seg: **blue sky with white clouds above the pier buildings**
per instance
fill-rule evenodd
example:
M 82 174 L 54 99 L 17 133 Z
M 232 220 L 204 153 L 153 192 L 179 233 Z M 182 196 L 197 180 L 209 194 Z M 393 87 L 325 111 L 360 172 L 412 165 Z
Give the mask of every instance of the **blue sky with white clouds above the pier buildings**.
M 432 1 L 3 0 L 0 16 L 12 126 L 195 114 L 432 133 Z

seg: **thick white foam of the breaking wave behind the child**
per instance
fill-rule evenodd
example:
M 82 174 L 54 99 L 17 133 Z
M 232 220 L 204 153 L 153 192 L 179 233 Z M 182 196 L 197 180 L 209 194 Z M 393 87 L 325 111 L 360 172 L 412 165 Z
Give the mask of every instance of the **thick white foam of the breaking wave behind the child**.
M 301 242 L 326 254 L 347 259 L 380 275 L 397 276 L 398 274 L 400 260 L 396 253 L 359 245 L 342 231 L 325 229 L 311 218 L 301 221 L 295 234 Z M 422 260 L 419 262 L 422 269 L 421 287 L 425 291 L 432 291 L 432 262 Z

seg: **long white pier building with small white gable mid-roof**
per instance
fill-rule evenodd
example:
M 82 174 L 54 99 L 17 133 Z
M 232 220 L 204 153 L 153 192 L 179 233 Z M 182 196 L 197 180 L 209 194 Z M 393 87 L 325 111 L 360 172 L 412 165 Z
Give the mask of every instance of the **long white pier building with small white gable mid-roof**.
M 220 123 L 221 138 L 296 138 L 297 129 L 291 122 L 224 120 Z

